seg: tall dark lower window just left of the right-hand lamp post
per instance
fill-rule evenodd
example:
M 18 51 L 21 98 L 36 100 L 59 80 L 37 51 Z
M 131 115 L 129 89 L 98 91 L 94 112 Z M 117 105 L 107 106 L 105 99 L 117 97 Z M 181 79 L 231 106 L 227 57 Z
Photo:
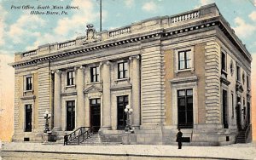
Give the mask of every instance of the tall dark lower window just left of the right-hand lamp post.
M 126 125 L 126 114 L 125 106 L 128 105 L 128 95 L 122 95 L 117 97 L 118 107 L 118 129 L 125 129 Z

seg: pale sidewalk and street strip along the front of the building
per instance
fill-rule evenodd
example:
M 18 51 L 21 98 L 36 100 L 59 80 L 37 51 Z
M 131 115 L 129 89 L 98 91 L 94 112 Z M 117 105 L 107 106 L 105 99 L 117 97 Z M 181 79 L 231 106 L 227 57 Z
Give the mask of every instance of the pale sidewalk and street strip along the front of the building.
M 5 156 L 21 153 L 50 154 L 50 157 L 65 158 L 68 155 L 76 155 L 82 159 L 97 156 L 98 159 L 123 159 L 124 157 L 150 159 L 160 158 L 211 158 L 211 159 L 256 159 L 256 145 L 235 144 L 230 146 L 183 146 L 178 150 L 177 146 L 153 146 L 153 145 L 119 145 L 119 146 L 61 146 L 43 145 L 39 143 L 8 143 L 3 144 L 1 155 Z M 42 154 L 43 155 L 43 154 Z M 62 155 L 62 157 L 61 157 Z M 16 156 L 16 155 L 15 155 Z M 84 157 L 82 157 L 84 156 Z M 44 157 L 45 158 L 45 157 Z M 136 158 L 136 159 L 137 159 Z M 8 159 L 8 158 L 7 158 Z M 18 159 L 18 158 L 17 158 Z M 89 158 L 90 159 L 90 158 Z

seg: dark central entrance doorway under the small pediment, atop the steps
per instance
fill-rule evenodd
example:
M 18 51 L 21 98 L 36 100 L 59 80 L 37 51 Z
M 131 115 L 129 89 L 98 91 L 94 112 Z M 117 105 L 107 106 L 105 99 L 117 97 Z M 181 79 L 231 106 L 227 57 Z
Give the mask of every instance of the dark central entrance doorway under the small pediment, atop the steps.
M 101 128 L 101 99 L 90 99 L 90 129 L 96 134 Z

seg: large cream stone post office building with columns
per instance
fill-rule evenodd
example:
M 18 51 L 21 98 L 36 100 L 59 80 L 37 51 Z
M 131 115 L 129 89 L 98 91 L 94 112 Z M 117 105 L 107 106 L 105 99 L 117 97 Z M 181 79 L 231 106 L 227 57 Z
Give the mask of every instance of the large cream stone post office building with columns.
M 59 137 L 120 141 L 128 104 L 133 144 L 250 138 L 252 57 L 215 4 L 84 35 L 15 54 L 14 141 L 42 140 L 45 111 Z

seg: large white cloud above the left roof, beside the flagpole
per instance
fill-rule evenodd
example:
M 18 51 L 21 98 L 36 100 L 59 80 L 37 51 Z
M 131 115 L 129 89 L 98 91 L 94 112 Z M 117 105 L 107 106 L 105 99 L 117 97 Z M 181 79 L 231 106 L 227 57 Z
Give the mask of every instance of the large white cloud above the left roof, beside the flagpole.
M 53 33 L 38 35 L 34 43 L 27 46 L 26 50 L 37 49 L 39 45 L 45 43 L 60 43 L 85 35 L 86 25 L 95 21 L 99 17 L 99 13 L 93 11 L 93 3 L 90 0 L 74 0 L 70 5 L 79 6 L 79 13 L 58 20 L 57 25 L 53 29 Z M 103 10 L 102 21 L 104 21 L 107 16 L 108 12 Z

